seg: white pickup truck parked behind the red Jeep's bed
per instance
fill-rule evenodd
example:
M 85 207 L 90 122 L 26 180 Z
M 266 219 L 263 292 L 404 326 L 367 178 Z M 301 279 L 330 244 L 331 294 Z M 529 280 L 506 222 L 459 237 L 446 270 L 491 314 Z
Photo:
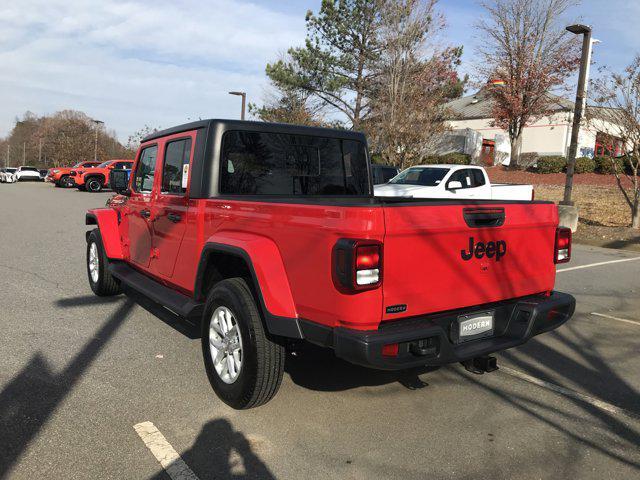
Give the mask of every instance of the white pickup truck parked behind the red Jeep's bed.
M 532 185 L 511 185 L 489 180 L 474 165 L 419 165 L 407 168 L 387 183 L 374 187 L 376 197 L 457 198 L 481 200 L 533 200 Z

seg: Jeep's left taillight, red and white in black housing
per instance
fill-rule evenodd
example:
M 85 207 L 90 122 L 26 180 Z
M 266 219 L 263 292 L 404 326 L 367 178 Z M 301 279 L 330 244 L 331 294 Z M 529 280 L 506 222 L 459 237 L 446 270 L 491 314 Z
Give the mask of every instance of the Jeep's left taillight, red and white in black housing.
M 333 248 L 333 282 L 340 291 L 358 292 L 382 283 L 382 244 L 340 239 Z

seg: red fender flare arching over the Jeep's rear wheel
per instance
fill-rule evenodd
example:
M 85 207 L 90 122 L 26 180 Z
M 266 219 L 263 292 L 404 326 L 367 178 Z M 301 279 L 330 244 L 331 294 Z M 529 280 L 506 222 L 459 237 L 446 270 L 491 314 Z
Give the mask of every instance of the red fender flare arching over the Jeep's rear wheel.
M 196 300 L 204 297 L 205 272 L 213 253 L 233 255 L 244 260 L 269 333 L 304 338 L 284 263 L 273 240 L 244 232 L 220 232 L 210 237 L 198 263 L 194 285 Z

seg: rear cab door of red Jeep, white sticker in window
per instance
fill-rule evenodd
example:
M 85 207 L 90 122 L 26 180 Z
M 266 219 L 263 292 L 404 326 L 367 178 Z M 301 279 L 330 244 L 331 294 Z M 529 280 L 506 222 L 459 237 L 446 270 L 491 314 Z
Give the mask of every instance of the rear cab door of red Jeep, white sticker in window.
M 189 169 L 196 132 L 167 137 L 161 162 L 159 191 L 155 197 L 151 270 L 171 278 L 187 224 Z

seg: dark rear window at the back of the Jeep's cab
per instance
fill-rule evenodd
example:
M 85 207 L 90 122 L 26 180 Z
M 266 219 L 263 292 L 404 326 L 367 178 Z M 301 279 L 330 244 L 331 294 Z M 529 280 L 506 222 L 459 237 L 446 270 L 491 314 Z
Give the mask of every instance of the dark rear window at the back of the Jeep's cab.
M 232 195 L 369 195 L 364 144 L 231 131 L 222 142 L 220 192 Z

